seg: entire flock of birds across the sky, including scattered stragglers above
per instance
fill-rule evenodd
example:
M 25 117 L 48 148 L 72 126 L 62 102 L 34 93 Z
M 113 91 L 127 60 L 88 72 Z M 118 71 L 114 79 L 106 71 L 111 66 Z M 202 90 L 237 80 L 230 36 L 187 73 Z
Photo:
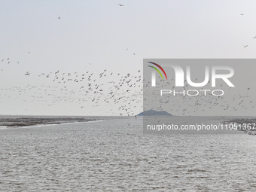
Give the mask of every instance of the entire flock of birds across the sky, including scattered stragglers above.
M 124 5 L 118 4 L 120 7 Z M 244 14 L 241 14 L 243 16 Z M 58 20 L 61 17 L 57 18 Z M 256 39 L 256 36 L 253 37 Z M 248 44 L 243 45 L 243 47 L 248 47 Z M 128 50 L 128 48 L 126 48 Z M 29 51 L 30 53 L 30 51 Z M 133 53 L 136 55 L 136 53 Z M 11 61 L 11 59 L 5 58 L 1 60 L 2 66 L 5 65 L 20 65 L 20 61 Z M 90 63 L 91 65 L 91 63 Z M 0 69 L 0 72 L 3 72 L 4 68 Z M 119 111 L 119 115 L 136 115 L 134 108 L 139 108 L 139 111 L 143 111 L 142 102 L 147 103 L 147 106 L 150 106 L 154 103 L 151 98 L 154 96 L 149 96 L 145 91 L 144 101 L 143 101 L 143 78 L 141 71 L 138 70 L 138 73 L 135 75 L 120 74 L 114 72 L 108 72 L 104 69 L 99 74 L 95 72 L 62 72 L 59 69 L 56 72 L 41 72 L 41 74 L 33 74 L 33 72 L 24 72 L 26 76 L 35 76 L 37 78 L 46 78 L 49 82 L 54 85 L 49 86 L 34 86 L 27 85 L 26 87 L 11 87 L 9 89 L 1 88 L 1 97 L 8 96 L 9 92 L 14 93 L 17 91 L 18 95 L 15 99 L 18 99 L 18 96 L 22 96 L 27 93 L 28 90 L 31 90 L 31 101 L 32 102 L 44 102 L 46 106 L 57 105 L 61 102 L 77 102 L 81 109 L 87 109 L 86 103 L 92 103 L 93 107 L 99 107 L 102 105 L 111 105 L 112 108 L 116 106 Z M 113 81 L 108 81 L 109 77 L 113 78 Z M 74 86 L 75 84 L 75 86 Z M 144 83 L 144 88 L 150 87 L 151 82 Z M 159 84 L 160 85 L 160 84 Z M 173 88 L 173 87 L 172 87 Z M 250 88 L 247 90 L 250 91 Z M 159 93 L 157 93 L 159 94 Z M 232 102 L 228 102 L 227 99 L 224 99 L 223 96 L 195 96 L 195 97 L 186 97 L 186 96 L 175 96 L 172 99 L 169 96 L 160 97 L 159 106 L 154 108 L 154 110 L 165 110 L 166 105 L 169 105 L 171 108 L 170 112 L 173 114 L 179 115 L 191 115 L 197 111 L 203 112 L 204 110 L 221 107 L 224 111 L 239 111 L 247 110 L 248 106 L 255 108 L 255 103 L 251 100 L 248 102 L 248 94 L 233 96 L 230 98 Z M 146 98 L 148 99 L 146 101 Z M 50 101 L 50 102 L 49 102 Z M 153 108 L 153 107 L 152 107 Z M 193 108 L 193 110 L 189 110 Z M 113 109 L 108 111 L 110 114 Z

